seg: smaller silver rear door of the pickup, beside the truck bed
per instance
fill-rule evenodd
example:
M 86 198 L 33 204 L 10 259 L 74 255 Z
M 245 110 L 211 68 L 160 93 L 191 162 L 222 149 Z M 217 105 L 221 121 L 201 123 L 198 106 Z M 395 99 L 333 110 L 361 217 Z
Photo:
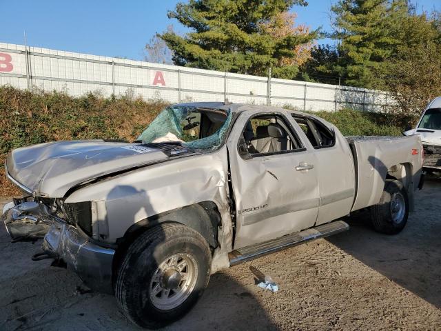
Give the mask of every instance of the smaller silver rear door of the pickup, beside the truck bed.
M 345 137 L 314 118 L 292 114 L 318 159 L 320 210 L 316 225 L 346 216 L 355 197 L 355 168 Z

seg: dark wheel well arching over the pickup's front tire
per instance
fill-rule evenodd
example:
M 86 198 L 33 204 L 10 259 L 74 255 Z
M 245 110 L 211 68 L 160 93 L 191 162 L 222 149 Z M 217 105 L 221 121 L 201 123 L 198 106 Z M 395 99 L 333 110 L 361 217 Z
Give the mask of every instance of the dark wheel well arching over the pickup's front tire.
M 112 278 L 116 276 L 116 270 L 119 268 L 125 251 L 130 244 L 139 237 L 143 232 L 153 228 L 161 223 L 181 223 L 199 232 L 209 244 L 210 248 L 214 249 L 218 246 L 218 226 L 221 224 L 220 212 L 218 211 L 216 203 L 213 201 L 203 201 L 186 205 L 182 208 L 169 210 L 161 214 L 156 214 L 147 219 L 134 223 L 127 229 L 124 236 L 116 241 L 116 252 L 113 259 Z

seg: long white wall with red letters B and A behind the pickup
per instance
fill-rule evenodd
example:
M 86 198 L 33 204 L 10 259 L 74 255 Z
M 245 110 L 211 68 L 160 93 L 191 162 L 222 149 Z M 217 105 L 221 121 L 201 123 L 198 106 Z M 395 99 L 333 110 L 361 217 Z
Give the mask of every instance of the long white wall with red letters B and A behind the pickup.
M 168 66 L 144 61 L 0 43 L 0 85 L 64 90 L 73 96 L 127 92 L 143 99 L 229 101 L 290 105 L 298 110 L 334 111 L 349 106 L 380 111 L 391 104 L 385 92 Z

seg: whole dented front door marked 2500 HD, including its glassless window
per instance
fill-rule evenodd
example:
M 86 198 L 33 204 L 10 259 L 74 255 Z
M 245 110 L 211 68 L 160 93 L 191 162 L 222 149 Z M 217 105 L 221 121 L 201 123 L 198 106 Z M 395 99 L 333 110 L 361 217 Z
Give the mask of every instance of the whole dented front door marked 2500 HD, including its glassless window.
M 320 204 L 316 157 L 292 120 L 280 112 L 245 111 L 227 146 L 237 211 L 234 249 L 314 225 Z

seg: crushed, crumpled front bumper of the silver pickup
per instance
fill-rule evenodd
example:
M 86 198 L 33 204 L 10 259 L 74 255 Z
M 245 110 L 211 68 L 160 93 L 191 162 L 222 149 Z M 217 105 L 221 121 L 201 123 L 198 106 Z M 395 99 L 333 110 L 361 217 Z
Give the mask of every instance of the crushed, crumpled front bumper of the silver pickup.
M 11 237 L 14 224 L 22 226 L 23 223 L 20 206 L 8 205 L 3 210 L 3 220 Z M 28 228 L 33 219 L 39 219 L 37 225 L 41 223 L 41 215 L 32 216 L 26 213 L 26 216 L 31 220 L 31 223 L 26 221 Z M 51 225 L 47 225 L 49 222 Z M 93 243 L 80 229 L 60 219 L 45 219 L 44 224 L 47 226 L 42 245 L 44 252 L 50 257 L 65 261 L 68 269 L 76 272 L 92 290 L 113 294 L 112 263 L 115 251 Z

